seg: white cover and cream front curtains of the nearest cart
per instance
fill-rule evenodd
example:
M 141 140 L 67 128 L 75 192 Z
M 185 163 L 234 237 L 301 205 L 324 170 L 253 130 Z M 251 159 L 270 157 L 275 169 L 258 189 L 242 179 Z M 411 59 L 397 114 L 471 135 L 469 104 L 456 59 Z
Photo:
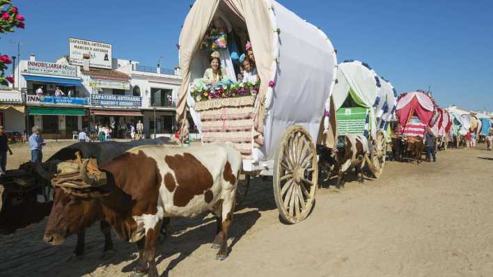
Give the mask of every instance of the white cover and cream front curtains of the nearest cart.
M 265 144 L 260 150 L 254 149 L 254 158 L 274 157 L 283 133 L 291 125 L 304 126 L 317 139 L 336 79 L 336 52 L 320 29 L 271 0 L 195 1 L 180 34 L 183 82 L 177 120 L 185 114 L 193 81 L 191 61 L 218 10 L 228 18 L 244 19 L 256 58 L 261 85 L 255 121 L 264 127 Z M 269 87 L 269 81 L 275 81 L 275 86 Z

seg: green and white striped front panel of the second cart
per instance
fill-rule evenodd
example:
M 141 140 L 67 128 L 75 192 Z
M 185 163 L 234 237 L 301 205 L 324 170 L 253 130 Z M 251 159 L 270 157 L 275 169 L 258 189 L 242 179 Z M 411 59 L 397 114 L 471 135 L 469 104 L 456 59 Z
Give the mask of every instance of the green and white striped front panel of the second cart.
M 370 109 L 363 107 L 341 108 L 337 111 L 339 134 L 365 134 L 368 130 Z

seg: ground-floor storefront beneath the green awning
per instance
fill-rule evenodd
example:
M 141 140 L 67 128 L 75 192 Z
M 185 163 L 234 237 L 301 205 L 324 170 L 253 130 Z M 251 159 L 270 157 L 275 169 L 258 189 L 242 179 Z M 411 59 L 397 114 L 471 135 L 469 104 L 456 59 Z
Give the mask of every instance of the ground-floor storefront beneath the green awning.
M 45 139 L 72 139 L 73 132 L 88 127 L 88 116 L 81 108 L 29 106 L 28 114 L 29 130 L 41 127 Z

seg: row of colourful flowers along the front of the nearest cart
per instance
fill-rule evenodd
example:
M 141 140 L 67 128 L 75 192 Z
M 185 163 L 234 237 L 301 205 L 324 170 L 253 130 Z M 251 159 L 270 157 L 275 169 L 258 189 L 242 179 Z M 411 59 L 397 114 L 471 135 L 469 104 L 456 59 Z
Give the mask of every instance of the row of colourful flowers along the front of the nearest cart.
M 250 82 L 237 82 L 233 84 L 226 84 L 224 86 L 212 86 L 212 84 L 205 84 L 204 86 L 191 85 L 190 94 L 197 102 L 222 99 L 222 98 L 234 98 L 249 95 L 257 95 L 260 88 L 260 83 L 252 84 Z

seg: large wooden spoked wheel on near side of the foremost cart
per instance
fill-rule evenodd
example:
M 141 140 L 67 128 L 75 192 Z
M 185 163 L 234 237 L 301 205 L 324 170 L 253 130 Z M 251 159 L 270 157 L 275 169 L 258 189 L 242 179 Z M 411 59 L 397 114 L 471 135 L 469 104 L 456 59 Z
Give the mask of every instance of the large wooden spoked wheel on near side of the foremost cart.
M 274 199 L 282 219 L 298 223 L 310 214 L 317 191 L 315 143 L 304 127 L 285 132 L 274 160 Z

